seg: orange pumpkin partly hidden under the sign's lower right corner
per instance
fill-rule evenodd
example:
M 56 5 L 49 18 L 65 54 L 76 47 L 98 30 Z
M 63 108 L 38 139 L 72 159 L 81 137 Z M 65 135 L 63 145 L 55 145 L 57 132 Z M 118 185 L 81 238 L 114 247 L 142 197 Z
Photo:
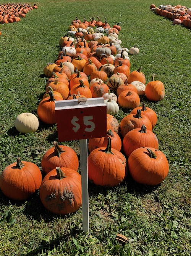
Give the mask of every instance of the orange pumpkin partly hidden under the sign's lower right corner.
M 121 139 L 116 132 L 110 129 L 107 131 L 107 137 L 89 139 L 89 142 L 88 142 L 89 152 L 92 152 L 92 150 L 97 149 L 99 147 L 107 147 L 108 137 L 110 137 L 112 140 L 112 148 L 120 151 Z

